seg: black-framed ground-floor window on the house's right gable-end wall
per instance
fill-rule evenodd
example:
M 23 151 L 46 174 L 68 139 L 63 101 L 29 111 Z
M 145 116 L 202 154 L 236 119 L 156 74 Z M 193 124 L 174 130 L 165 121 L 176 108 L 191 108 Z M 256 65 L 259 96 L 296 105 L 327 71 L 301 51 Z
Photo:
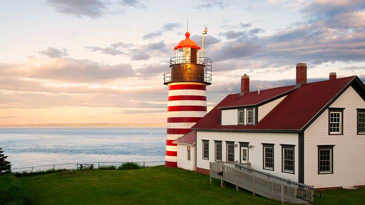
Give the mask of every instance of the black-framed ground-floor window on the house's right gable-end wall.
M 318 174 L 333 173 L 333 146 L 318 145 Z

